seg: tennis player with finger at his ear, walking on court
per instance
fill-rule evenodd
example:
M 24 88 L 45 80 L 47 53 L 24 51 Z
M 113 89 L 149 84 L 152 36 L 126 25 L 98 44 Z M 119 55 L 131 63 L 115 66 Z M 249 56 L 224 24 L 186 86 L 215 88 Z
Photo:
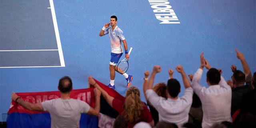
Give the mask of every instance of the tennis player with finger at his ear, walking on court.
M 116 77 L 117 67 L 116 64 L 118 64 L 118 61 L 120 57 L 123 54 L 123 48 L 121 42 L 124 43 L 124 51 L 125 51 L 125 58 L 129 60 L 129 54 L 128 54 L 128 48 L 127 43 L 124 38 L 123 31 L 118 28 L 116 25 L 117 23 L 117 17 L 111 16 L 110 17 L 110 23 L 106 23 L 102 30 L 100 30 L 99 36 L 104 36 L 106 34 L 109 34 L 110 37 L 110 44 L 111 44 L 111 58 L 110 58 L 110 64 L 109 64 L 109 70 L 110 70 L 110 83 L 108 84 L 109 88 L 115 89 L 114 80 Z M 110 27 L 111 26 L 111 27 Z M 130 86 L 132 82 L 132 75 L 128 75 L 126 73 L 122 74 L 127 81 L 127 88 Z

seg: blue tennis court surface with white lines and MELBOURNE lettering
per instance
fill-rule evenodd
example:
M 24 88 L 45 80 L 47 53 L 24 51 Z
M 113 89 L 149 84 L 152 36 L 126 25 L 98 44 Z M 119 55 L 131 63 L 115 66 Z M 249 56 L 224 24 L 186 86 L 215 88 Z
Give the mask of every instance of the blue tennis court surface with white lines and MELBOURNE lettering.
M 212 67 L 223 70 L 226 80 L 232 64 L 242 70 L 235 48 L 256 71 L 255 0 L 53 0 L 54 8 L 51 2 L 0 0 L 2 115 L 12 92 L 55 91 L 62 76 L 72 78 L 74 89 L 87 88 L 89 75 L 108 84 L 110 39 L 99 32 L 112 15 L 118 17 L 128 48 L 133 47 L 127 73 L 134 76 L 131 85 L 140 88 L 143 101 L 146 70 L 162 66 L 157 83 L 167 82 L 168 69 L 173 69 L 182 84 L 175 67 L 181 64 L 187 75 L 194 74 L 201 52 Z M 201 80 L 205 86 L 206 71 Z M 116 73 L 115 85 L 124 95 L 124 76 Z M 182 84 L 180 95 L 183 91 Z

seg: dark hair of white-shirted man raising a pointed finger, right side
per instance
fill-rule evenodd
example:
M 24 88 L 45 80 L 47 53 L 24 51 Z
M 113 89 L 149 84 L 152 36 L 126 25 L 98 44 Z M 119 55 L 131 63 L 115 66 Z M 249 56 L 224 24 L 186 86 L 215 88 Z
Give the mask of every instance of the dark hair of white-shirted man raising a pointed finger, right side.
M 210 68 L 206 76 L 211 85 L 219 84 L 220 72 L 216 68 Z

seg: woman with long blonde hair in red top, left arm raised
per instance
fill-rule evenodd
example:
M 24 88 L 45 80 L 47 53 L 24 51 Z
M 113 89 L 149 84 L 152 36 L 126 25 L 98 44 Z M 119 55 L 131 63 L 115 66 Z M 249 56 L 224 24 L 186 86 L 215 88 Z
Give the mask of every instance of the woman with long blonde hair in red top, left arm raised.
M 147 122 L 152 127 L 154 126 L 154 120 L 148 110 L 146 104 L 140 100 L 140 90 L 136 86 L 131 86 L 127 89 L 125 100 L 119 100 L 110 96 L 104 89 L 102 89 L 92 78 L 88 78 L 89 84 L 98 88 L 102 92 L 102 96 L 106 99 L 106 102 L 114 108 L 119 115 L 124 116 L 128 124 L 128 128 L 138 122 Z

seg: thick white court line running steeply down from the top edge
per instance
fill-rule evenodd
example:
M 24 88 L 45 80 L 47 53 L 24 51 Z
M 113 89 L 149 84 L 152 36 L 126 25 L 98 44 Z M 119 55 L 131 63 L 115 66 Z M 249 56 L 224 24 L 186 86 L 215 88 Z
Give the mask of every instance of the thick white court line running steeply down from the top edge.
M 55 10 L 54 10 L 54 4 L 53 4 L 53 0 L 49 0 L 49 1 L 50 1 L 50 8 L 52 11 L 52 20 L 53 20 L 53 25 L 54 25 L 55 35 L 56 35 L 56 41 L 57 41 L 57 46 L 58 46 L 58 51 L 59 51 L 59 56 L 60 56 L 60 65 L 62 67 L 65 67 L 64 56 L 63 56 L 62 47 L 61 47 L 61 43 L 60 43 L 60 34 L 59 34 L 58 24 L 57 24 L 57 20 L 56 20 L 56 14 L 55 14 Z

